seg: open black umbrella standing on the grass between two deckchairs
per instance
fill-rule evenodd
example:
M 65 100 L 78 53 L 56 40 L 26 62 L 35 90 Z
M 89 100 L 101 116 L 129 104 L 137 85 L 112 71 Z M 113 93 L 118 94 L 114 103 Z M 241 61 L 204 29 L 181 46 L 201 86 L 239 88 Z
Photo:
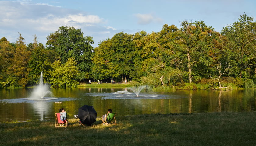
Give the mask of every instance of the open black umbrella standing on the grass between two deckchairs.
M 91 125 L 96 121 L 97 112 L 92 106 L 84 105 L 78 109 L 77 117 L 83 124 Z

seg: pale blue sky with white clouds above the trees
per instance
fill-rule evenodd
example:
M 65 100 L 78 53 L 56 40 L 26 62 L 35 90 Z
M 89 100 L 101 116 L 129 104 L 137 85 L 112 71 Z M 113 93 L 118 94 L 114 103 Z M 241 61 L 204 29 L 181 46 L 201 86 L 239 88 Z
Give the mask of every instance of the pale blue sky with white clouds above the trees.
M 45 45 L 47 36 L 68 26 L 92 36 L 98 47 L 119 32 L 159 32 L 164 24 L 180 28 L 185 20 L 221 32 L 240 15 L 256 17 L 255 7 L 255 0 L 0 0 L 0 38 L 12 43 L 20 33 L 29 44 L 36 35 Z

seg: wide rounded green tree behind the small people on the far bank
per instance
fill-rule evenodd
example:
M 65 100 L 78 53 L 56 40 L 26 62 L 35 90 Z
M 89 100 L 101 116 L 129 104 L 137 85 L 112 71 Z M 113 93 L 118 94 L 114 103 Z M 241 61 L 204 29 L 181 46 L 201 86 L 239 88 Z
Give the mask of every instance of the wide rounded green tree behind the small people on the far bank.
M 95 48 L 93 74 L 95 78 L 122 78 L 126 80 L 133 72 L 133 35 L 117 33 Z

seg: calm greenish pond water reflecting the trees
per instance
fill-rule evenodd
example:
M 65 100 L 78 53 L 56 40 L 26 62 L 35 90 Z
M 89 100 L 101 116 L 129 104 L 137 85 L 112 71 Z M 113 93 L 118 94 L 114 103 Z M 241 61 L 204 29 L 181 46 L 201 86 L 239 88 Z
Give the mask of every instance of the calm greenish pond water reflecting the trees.
M 256 90 L 178 90 L 151 92 L 142 89 L 139 96 L 129 88 L 51 89 L 48 100 L 28 100 L 33 89 L 0 89 L 0 122 L 52 120 L 59 108 L 74 118 L 84 104 L 93 106 L 97 117 L 112 109 L 117 115 L 151 113 L 203 113 L 255 111 Z M 62 103 L 55 103 L 61 101 Z

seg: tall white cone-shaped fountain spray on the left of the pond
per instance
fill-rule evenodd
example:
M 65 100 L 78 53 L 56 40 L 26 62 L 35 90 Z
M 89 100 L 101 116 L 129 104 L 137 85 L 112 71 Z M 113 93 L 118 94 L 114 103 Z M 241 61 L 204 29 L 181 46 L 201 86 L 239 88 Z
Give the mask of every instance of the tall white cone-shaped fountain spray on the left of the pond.
M 41 72 L 39 85 L 36 86 L 31 94 L 30 98 L 27 98 L 28 100 L 52 100 L 57 98 L 47 97 L 47 96 L 53 96 L 52 92 L 49 90 L 49 87 L 47 84 L 44 84 L 43 81 L 43 71 Z

